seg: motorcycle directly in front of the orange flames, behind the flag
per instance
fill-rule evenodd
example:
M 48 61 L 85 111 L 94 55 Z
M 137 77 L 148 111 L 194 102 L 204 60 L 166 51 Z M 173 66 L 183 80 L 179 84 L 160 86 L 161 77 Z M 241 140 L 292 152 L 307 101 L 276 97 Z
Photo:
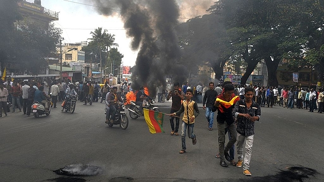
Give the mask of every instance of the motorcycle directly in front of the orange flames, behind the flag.
M 153 105 L 154 103 L 155 103 L 154 99 L 145 98 L 143 101 L 143 109 L 160 112 L 160 109 Z M 135 101 L 131 101 L 131 104 L 130 104 L 130 107 L 128 108 L 128 110 L 130 111 L 130 117 L 132 119 L 137 119 L 140 116 L 144 116 L 144 112 L 142 111 L 142 113 L 139 113 L 139 109 L 140 109 L 140 106 L 136 105 Z

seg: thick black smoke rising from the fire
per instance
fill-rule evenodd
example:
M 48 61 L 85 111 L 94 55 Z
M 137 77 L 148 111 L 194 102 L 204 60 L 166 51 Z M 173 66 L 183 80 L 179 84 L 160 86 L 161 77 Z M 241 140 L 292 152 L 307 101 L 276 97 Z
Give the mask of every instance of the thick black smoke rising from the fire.
M 174 27 L 183 16 L 194 16 L 192 12 L 208 9 L 211 1 L 177 0 L 99 0 L 97 11 L 105 16 L 119 14 L 124 21 L 127 35 L 132 38 L 132 50 L 139 50 L 132 71 L 132 88 L 147 86 L 155 96 L 158 85 L 166 84 L 166 75 L 173 81 L 183 82 L 187 76 L 184 66 L 177 64 L 181 57 Z M 189 8 L 193 6 L 192 8 Z M 120 11 L 116 11 L 120 10 Z

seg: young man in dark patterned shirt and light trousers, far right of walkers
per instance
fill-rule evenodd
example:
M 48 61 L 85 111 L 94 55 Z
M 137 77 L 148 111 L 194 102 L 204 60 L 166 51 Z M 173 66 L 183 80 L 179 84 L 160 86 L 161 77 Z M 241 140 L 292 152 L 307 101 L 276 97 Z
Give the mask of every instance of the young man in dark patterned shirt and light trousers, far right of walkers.
M 236 102 L 233 109 L 233 116 L 237 118 L 237 156 L 238 161 L 236 167 L 241 167 L 243 162 L 243 173 L 245 175 L 252 175 L 249 171 L 250 160 L 254 139 L 254 123 L 259 121 L 261 109 L 258 103 L 253 98 L 252 87 L 245 88 L 245 99 Z M 245 152 L 243 155 L 243 148 L 245 145 Z

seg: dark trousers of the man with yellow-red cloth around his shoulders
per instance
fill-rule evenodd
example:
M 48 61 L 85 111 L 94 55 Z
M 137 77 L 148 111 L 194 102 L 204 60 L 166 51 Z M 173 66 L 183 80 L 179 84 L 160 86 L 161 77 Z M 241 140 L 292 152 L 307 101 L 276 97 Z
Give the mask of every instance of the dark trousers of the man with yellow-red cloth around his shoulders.
M 227 125 L 226 122 L 219 123 L 217 122 L 217 128 L 218 128 L 218 150 L 219 150 L 219 158 L 221 161 L 225 161 L 224 152 L 228 152 L 229 149 L 235 144 L 236 142 L 236 126 L 233 122 L 231 125 Z M 226 128 L 228 129 L 228 132 L 231 136 L 233 136 L 231 139 L 229 139 L 228 143 L 225 147 L 225 134 L 226 134 Z

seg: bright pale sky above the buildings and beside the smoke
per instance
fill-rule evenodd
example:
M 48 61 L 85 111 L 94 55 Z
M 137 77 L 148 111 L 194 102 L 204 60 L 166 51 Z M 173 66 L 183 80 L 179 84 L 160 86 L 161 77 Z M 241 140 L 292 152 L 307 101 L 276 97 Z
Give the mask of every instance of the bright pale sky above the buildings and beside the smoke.
M 93 0 L 96 1 L 96 0 Z M 163 1 L 163 0 L 161 0 Z M 33 0 L 27 0 L 33 3 Z M 75 2 L 75 3 L 73 3 Z M 131 39 L 126 36 L 123 22 L 118 15 L 107 17 L 100 15 L 95 7 L 87 6 L 87 2 L 80 0 L 43 0 L 42 6 L 54 12 L 59 12 L 59 20 L 54 21 L 56 27 L 61 28 L 64 40 L 62 43 L 76 43 L 89 41 L 91 31 L 98 27 L 107 29 L 108 33 L 115 35 L 115 43 L 118 43 L 118 51 L 124 55 L 123 66 L 134 66 L 137 51 L 130 48 Z M 213 5 L 214 0 L 177 0 L 180 7 L 180 17 L 193 18 L 206 14 L 206 10 Z M 83 5 L 86 4 L 86 5 Z M 187 19 L 179 19 L 186 21 Z

